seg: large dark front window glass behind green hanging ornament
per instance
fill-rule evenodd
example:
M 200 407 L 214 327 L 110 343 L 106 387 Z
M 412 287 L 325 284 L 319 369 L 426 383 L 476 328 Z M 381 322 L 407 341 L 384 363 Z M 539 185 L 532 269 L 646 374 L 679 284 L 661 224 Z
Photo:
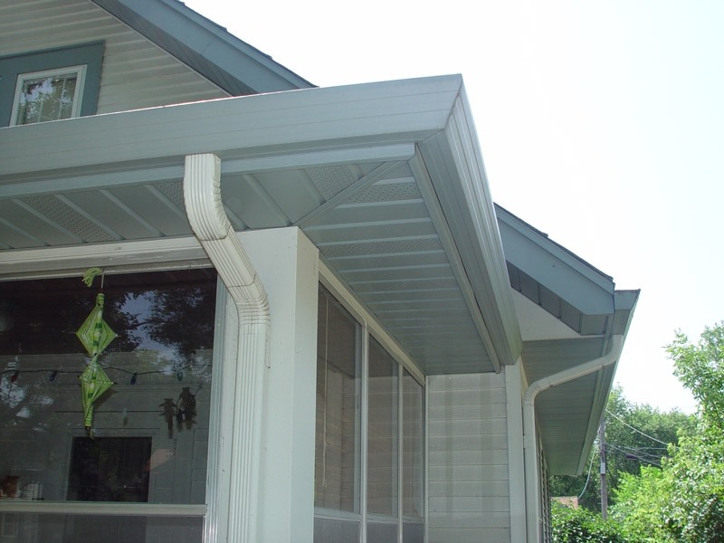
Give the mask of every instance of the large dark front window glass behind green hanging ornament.
M 3 497 L 204 503 L 215 272 L 105 277 L 116 337 L 98 362 L 112 385 L 88 424 L 79 377 L 91 356 L 76 331 L 100 281 L 0 282 Z

